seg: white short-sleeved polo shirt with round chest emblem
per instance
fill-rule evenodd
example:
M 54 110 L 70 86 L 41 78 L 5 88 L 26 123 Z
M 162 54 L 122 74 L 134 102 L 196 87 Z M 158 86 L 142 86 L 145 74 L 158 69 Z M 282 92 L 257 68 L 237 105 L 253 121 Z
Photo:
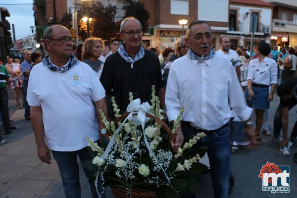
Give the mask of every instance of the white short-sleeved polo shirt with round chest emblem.
M 60 73 L 41 62 L 30 72 L 27 101 L 30 106 L 42 107 L 45 139 L 51 150 L 79 150 L 88 146 L 88 137 L 97 141 L 93 101 L 104 97 L 104 88 L 86 63 Z

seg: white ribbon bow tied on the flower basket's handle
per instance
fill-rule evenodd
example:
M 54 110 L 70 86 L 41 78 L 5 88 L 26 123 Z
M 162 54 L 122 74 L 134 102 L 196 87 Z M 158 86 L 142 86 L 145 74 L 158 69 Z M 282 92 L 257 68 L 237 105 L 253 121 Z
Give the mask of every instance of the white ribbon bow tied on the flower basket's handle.
M 140 99 L 134 99 L 127 106 L 126 111 L 130 112 L 128 115 L 128 120 L 133 120 L 135 125 L 141 125 L 145 128 L 146 122 L 150 120 L 150 118 L 146 117 L 146 113 L 151 114 L 150 105 L 148 102 L 144 102 L 140 104 Z M 137 112 L 137 116 L 133 116 L 133 112 Z

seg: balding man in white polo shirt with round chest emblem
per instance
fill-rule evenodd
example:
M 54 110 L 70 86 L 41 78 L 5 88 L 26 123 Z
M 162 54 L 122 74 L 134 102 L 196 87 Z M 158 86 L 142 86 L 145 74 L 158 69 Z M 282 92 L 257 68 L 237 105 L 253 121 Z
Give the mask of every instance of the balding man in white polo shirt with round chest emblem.
M 66 198 L 81 198 L 77 155 L 81 162 L 92 159 L 87 138 L 98 141 L 99 128 L 104 128 L 96 109 L 107 112 L 105 91 L 91 67 L 72 54 L 72 38 L 65 27 L 50 26 L 44 41 L 49 55 L 32 69 L 27 94 L 38 157 L 50 163 L 51 150 Z M 93 198 L 98 198 L 90 180 L 96 172 L 84 171 Z

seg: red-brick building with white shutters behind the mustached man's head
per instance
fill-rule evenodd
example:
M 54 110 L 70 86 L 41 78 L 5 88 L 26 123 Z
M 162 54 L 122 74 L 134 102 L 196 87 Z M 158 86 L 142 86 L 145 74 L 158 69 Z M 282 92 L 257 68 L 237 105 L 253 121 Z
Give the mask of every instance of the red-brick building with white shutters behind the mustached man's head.
M 185 34 L 187 25 L 179 20 L 206 21 L 213 30 L 213 46 L 219 48 L 222 32 L 229 30 L 229 0 L 140 0 L 150 13 L 149 31 L 143 37 L 147 46 L 173 48 L 175 41 Z

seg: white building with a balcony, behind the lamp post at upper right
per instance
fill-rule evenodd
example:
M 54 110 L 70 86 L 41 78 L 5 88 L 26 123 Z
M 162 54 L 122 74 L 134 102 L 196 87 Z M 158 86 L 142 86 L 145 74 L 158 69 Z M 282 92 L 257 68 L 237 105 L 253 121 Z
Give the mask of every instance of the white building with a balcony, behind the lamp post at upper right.
M 254 17 L 254 44 L 261 40 L 269 43 L 273 7 L 273 4 L 262 0 L 230 0 L 229 30 L 222 35 L 228 36 L 236 47 L 250 46 Z

